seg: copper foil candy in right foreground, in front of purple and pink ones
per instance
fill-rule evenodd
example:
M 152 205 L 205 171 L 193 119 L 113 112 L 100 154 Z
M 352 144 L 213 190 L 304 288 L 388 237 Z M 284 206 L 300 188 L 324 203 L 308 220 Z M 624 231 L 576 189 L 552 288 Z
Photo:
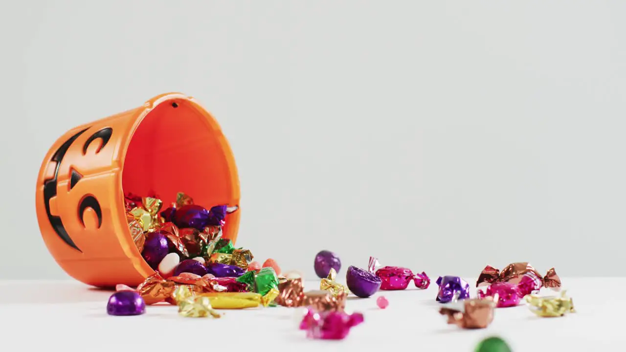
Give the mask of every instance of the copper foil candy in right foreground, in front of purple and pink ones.
M 483 329 L 493 321 L 496 304 L 492 299 L 463 299 L 446 303 L 439 314 L 448 317 L 448 324 L 464 329 Z

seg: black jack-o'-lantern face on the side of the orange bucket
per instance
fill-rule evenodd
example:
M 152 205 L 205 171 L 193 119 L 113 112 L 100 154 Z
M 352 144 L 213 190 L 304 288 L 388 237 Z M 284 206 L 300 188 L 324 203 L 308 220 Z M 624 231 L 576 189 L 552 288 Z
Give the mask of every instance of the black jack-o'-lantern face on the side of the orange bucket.
M 97 217 L 97 228 L 100 228 L 102 225 L 102 209 L 97 197 L 93 194 L 80 194 L 80 192 L 74 190 L 74 188 L 83 179 L 83 173 L 81 173 L 81 170 L 93 168 L 94 158 L 93 155 L 88 155 L 88 153 L 100 153 L 101 150 L 106 147 L 106 144 L 109 142 L 113 133 L 113 128 L 101 128 L 91 134 L 84 143 L 76 143 L 76 140 L 84 135 L 84 133 L 88 130 L 90 130 L 90 128 L 85 128 L 84 130 L 75 133 L 56 150 L 50 160 L 50 162 L 54 162 L 54 177 L 44 181 L 43 189 L 46 213 L 54 232 L 56 232 L 59 238 L 68 244 L 69 247 L 72 247 L 80 252 L 82 252 L 81 249 L 76 246 L 76 243 L 68 234 L 68 230 L 63 224 L 63 219 L 61 219 L 61 216 L 58 213 L 58 206 L 62 204 L 63 207 L 71 207 L 71 204 L 75 204 L 78 220 L 83 227 L 86 226 L 84 219 L 85 212 L 87 209 L 91 209 Z M 96 148 L 90 149 L 92 142 L 97 139 L 101 140 L 100 145 Z M 78 149 L 81 149 L 81 153 L 83 154 L 83 157 L 85 157 L 84 159 L 74 157 L 72 158 L 71 165 L 63 163 L 63 159 L 68 153 L 75 154 L 78 152 Z M 85 161 L 82 162 L 81 160 Z M 86 163 L 89 163 L 89 165 L 86 165 Z M 59 183 L 68 184 L 66 191 L 59 185 Z M 90 192 L 93 192 L 93 190 L 90 190 Z M 77 199 L 78 201 L 76 201 Z M 56 205 L 56 207 L 53 207 L 51 203 Z

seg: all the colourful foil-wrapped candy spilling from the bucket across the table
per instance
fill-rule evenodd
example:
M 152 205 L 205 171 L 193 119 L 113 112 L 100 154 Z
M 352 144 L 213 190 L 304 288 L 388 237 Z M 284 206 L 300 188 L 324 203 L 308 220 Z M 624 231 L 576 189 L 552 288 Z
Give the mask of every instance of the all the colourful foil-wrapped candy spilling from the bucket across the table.
M 283 276 L 273 259 L 261 265 L 253 261 L 249 249 L 235 248 L 232 241 L 222 238 L 227 214 L 236 207 L 216 205 L 207 209 L 183 193 L 178 193 L 170 207 L 162 207 L 157 197 L 126 196 L 133 240 L 155 274 L 136 288 L 118 285 L 107 306 L 111 315 L 139 315 L 145 313 L 146 305 L 161 303 L 174 304 L 180 315 L 193 318 L 220 318 L 219 309 L 300 307 L 305 313 L 299 328 L 307 331 L 307 337 L 343 339 L 352 327 L 364 322 L 363 314 L 346 313 L 348 295 L 369 298 L 379 290 L 407 289 L 411 282 L 418 289 L 427 289 L 431 282 L 425 272 L 381 266 L 370 257 L 366 269 L 348 267 L 346 287 L 336 282 L 341 270 L 339 257 L 321 251 L 314 261 L 321 278 L 319 289 L 305 291 L 299 274 Z M 439 313 L 448 324 L 461 328 L 486 328 L 494 319 L 495 308 L 518 306 L 521 301 L 541 317 L 575 312 L 565 291 L 560 296 L 538 295 L 541 287 L 560 290 L 555 269 L 541 276 L 527 262 L 512 263 L 501 271 L 486 266 L 476 282 L 479 288 L 475 298 L 470 298 L 469 284 L 461 277 L 438 277 L 436 284 L 435 299 L 442 303 Z M 389 301 L 379 296 L 376 304 L 384 309 Z M 506 346 L 491 338 L 476 350 L 487 351 L 485 346 L 492 345 Z

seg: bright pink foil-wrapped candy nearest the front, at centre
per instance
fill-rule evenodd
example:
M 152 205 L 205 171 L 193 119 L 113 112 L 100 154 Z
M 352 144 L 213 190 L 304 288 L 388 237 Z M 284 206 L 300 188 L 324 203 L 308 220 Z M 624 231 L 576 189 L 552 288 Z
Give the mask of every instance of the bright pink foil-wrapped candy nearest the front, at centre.
M 309 308 L 300 323 L 300 330 L 306 330 L 308 338 L 344 339 L 351 328 L 363 323 L 363 321 L 364 318 L 361 313 L 319 312 Z

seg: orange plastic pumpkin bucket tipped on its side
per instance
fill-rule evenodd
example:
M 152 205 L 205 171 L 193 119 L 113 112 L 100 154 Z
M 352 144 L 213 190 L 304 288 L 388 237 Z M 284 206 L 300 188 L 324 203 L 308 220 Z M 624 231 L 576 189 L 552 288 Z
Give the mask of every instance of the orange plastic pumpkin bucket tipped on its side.
M 168 93 L 69 130 L 50 148 L 37 179 L 39 229 L 69 276 L 97 287 L 136 286 L 154 271 L 126 222 L 124 195 L 177 192 L 205 207 L 239 206 L 239 176 L 215 118 L 190 96 Z M 222 237 L 237 239 L 241 209 Z

